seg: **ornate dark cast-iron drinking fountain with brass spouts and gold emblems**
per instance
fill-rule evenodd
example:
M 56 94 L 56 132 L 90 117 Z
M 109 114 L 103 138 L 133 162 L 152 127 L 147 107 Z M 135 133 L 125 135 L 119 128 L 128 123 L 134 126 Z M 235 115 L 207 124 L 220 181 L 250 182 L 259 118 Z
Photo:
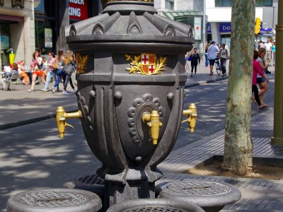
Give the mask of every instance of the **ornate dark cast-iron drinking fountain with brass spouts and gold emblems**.
M 86 141 L 103 163 L 106 208 L 154 198 L 156 168 L 171 152 L 183 114 L 185 52 L 190 26 L 159 16 L 150 0 L 108 1 L 103 14 L 68 29 L 76 53 L 79 112 L 57 109 L 60 136 L 67 118 L 81 118 Z M 184 111 L 193 131 L 195 104 Z

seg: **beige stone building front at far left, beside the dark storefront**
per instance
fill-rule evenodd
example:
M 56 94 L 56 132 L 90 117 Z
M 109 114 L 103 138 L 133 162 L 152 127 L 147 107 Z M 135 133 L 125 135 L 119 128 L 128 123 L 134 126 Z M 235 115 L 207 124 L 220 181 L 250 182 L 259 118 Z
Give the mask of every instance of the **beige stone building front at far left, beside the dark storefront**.
M 0 65 L 9 64 L 12 50 L 15 61 L 30 59 L 35 49 L 33 1 L 0 0 L 0 37 Z

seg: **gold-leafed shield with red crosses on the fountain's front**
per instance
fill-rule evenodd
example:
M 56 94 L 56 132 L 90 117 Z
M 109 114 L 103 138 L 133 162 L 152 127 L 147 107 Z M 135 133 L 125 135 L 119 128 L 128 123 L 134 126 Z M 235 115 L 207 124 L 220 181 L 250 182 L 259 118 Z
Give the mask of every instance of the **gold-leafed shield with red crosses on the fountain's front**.
M 156 58 L 156 54 L 140 54 L 139 56 L 131 57 L 129 54 L 125 54 L 127 61 L 130 63 L 130 68 L 126 69 L 129 73 L 138 73 L 144 75 L 161 74 L 165 71 L 165 65 L 167 57 Z

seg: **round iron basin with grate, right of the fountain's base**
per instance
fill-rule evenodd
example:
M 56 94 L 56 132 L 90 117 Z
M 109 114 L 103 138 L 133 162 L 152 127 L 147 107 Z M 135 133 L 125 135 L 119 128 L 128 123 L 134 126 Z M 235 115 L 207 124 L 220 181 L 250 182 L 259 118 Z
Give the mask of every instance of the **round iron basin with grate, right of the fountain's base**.
M 178 199 L 201 207 L 225 206 L 241 199 L 238 188 L 224 182 L 210 182 L 201 179 L 163 182 L 156 186 L 160 198 Z

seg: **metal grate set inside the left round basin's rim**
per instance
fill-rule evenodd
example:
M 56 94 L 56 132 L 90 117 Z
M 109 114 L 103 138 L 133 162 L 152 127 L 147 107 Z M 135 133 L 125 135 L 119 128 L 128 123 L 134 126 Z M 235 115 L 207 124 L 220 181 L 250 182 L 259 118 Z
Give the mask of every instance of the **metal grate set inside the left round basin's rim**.
M 75 192 L 39 191 L 26 192 L 23 196 L 19 196 L 17 201 L 28 206 L 64 207 L 85 204 L 87 198 Z

